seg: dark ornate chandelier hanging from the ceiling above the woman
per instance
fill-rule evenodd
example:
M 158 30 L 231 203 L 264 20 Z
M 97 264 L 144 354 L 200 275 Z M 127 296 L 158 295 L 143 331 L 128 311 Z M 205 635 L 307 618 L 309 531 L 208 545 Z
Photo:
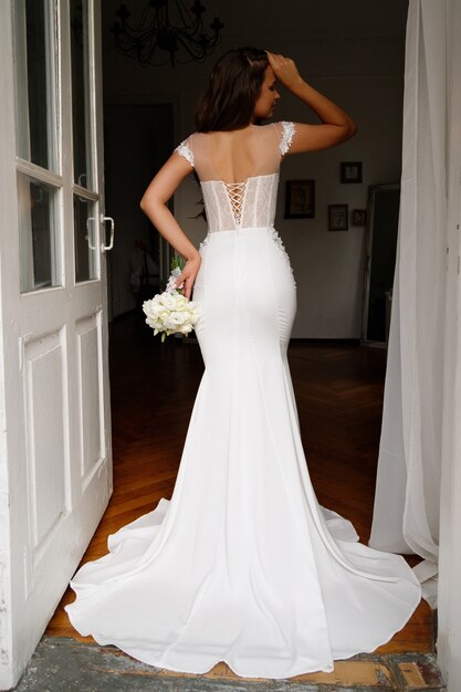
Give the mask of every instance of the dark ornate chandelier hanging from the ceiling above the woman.
M 203 62 L 221 40 L 223 24 L 214 17 L 207 33 L 206 9 L 200 0 L 186 7 L 184 0 L 149 0 L 137 25 L 128 22 L 132 13 L 125 3 L 111 28 L 121 53 L 137 57 L 143 66 Z

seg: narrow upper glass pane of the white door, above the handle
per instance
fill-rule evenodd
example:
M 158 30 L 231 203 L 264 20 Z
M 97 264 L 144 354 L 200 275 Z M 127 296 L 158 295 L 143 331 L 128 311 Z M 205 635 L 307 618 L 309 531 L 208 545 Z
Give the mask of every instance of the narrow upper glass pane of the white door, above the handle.
M 71 0 L 74 180 L 93 189 L 87 0 Z

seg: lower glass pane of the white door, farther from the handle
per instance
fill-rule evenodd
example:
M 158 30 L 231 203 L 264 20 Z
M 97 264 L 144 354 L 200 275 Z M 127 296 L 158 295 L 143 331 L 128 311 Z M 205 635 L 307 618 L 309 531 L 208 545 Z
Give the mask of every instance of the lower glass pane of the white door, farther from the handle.
M 21 292 L 61 285 L 59 190 L 18 175 Z

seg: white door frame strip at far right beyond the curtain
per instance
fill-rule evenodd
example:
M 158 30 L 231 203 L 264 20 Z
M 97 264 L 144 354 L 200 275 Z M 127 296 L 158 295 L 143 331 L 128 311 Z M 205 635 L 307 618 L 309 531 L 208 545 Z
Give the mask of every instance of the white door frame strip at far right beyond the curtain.
M 447 294 L 440 482 L 438 663 L 448 692 L 461 690 L 461 3 L 447 0 Z

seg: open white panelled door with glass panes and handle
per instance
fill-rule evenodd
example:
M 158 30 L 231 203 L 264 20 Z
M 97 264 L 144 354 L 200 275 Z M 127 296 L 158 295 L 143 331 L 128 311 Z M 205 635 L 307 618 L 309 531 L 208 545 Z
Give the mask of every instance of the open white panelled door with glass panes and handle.
M 112 492 L 99 49 L 99 0 L 2 0 L 2 689 Z

